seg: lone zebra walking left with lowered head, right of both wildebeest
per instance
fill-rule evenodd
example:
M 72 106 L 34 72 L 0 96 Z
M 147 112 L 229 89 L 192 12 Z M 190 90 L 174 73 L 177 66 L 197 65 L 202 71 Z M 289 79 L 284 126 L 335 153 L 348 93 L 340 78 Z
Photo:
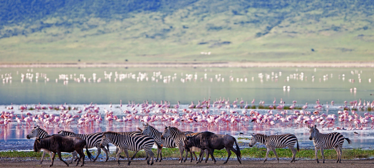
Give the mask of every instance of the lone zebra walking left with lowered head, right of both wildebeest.
M 283 134 L 283 135 L 264 135 L 264 134 L 251 134 L 252 139 L 251 142 L 249 143 L 249 147 L 252 147 L 255 143 L 259 142 L 262 143 L 266 146 L 266 156 L 264 162 L 267 160 L 267 156 L 269 155 L 269 151 L 272 150 L 274 155 L 276 156 L 278 163 L 279 163 L 279 158 L 277 155 L 277 152 L 275 151 L 275 148 L 283 148 L 283 147 L 288 147 L 292 151 L 292 162 L 295 161 L 296 153 L 297 151 L 300 150 L 299 148 L 299 142 L 296 138 L 296 136 L 292 134 Z M 295 143 L 297 144 L 297 151 L 295 149 Z

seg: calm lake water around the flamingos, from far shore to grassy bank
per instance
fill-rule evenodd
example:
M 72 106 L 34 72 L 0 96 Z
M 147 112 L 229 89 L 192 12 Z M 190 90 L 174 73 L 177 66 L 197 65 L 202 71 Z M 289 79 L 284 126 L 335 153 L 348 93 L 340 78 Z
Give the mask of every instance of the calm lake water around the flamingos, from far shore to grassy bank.
M 11 79 L 9 78 L 11 73 Z M 24 77 L 22 78 L 22 74 Z M 106 74 L 106 75 L 105 75 Z M 112 75 L 110 75 L 112 74 Z M 296 106 L 301 107 L 309 103 L 307 111 L 315 111 L 313 106 L 316 100 L 330 105 L 331 101 L 335 105 L 327 109 L 321 109 L 320 113 L 337 114 L 344 101 L 354 101 L 362 99 L 362 102 L 373 101 L 374 93 L 371 79 L 374 77 L 374 69 L 371 68 L 2 68 L 0 71 L 3 83 L 0 87 L 0 111 L 11 112 L 7 109 L 13 103 L 14 114 L 21 115 L 19 106 L 28 104 L 28 108 L 34 107 L 38 103 L 47 106 L 50 103 L 54 107 L 67 103 L 70 107 L 83 109 L 89 103 L 97 104 L 99 113 L 103 118 L 100 124 L 93 126 L 77 127 L 77 122 L 68 127 L 47 127 L 50 134 L 55 134 L 59 130 L 71 130 L 76 133 L 93 133 L 101 131 L 135 131 L 141 126 L 140 119 L 132 122 L 119 123 L 116 121 L 106 121 L 104 109 L 113 111 L 113 115 L 119 118 L 126 116 L 123 111 L 128 107 L 128 101 L 135 101 L 136 104 L 151 100 L 160 103 L 160 100 L 167 100 L 174 106 L 180 101 L 178 109 L 182 116 L 182 109 L 188 109 L 188 105 L 193 101 L 204 100 L 211 97 L 211 103 L 217 99 L 230 99 L 232 103 L 238 98 L 238 105 L 241 99 L 251 105 L 258 106 L 261 100 L 264 106 L 273 105 L 276 98 L 278 105 L 280 99 L 285 101 L 285 106 L 290 106 L 296 100 Z M 32 75 L 32 78 L 31 78 Z M 36 79 L 36 77 L 38 77 Z M 289 87 L 288 87 L 289 86 Z M 284 88 L 285 87 L 285 88 Z M 122 100 L 122 108 L 119 108 Z M 109 108 L 109 103 L 113 104 Z M 244 103 L 245 104 L 245 103 Z M 349 106 L 349 104 L 348 104 Z M 138 107 L 128 109 L 131 113 L 135 110 L 141 111 Z M 210 108 L 209 114 L 220 115 L 221 111 L 230 113 L 230 110 L 241 113 L 242 109 Z M 157 113 L 157 109 L 150 111 L 148 115 L 162 115 Z M 198 109 L 192 111 L 199 112 Z M 249 113 L 250 109 L 248 109 Z M 255 109 L 261 114 L 268 113 L 267 109 Z M 29 110 L 34 115 L 45 113 L 55 113 L 59 115 L 61 111 L 55 110 Z M 69 113 L 75 114 L 77 110 Z M 281 111 L 273 110 L 273 114 Z M 358 111 L 359 116 L 364 116 L 367 111 Z M 83 112 L 84 113 L 84 112 Z M 293 111 L 289 111 L 289 114 Z M 370 112 L 372 113 L 372 112 Z M 175 115 L 167 113 L 168 115 Z M 23 113 L 25 115 L 25 112 Z M 145 116 L 147 114 L 137 113 L 134 115 Z M 370 120 L 371 121 L 371 120 Z M 25 123 L 23 123 L 25 124 Z M 37 124 L 37 123 L 34 123 Z M 251 121 L 236 124 L 216 124 L 207 126 L 205 123 L 184 123 L 172 124 L 170 121 L 155 121 L 150 123 L 159 131 L 163 130 L 163 125 L 172 125 L 181 130 L 212 131 L 220 134 L 230 134 L 237 137 L 238 132 L 244 133 L 243 137 L 250 137 L 250 133 L 265 134 L 295 134 L 302 147 L 312 146 L 309 141 L 309 131 L 306 124 L 284 124 L 280 121 L 275 125 L 257 124 Z M 317 123 L 316 123 L 317 124 Z M 352 145 L 344 143 L 345 147 L 373 147 L 374 131 L 371 129 L 373 122 L 365 125 L 363 130 L 337 130 L 344 137 L 353 141 Z M 348 128 L 349 125 L 343 125 Z M 335 121 L 333 126 L 341 127 L 339 121 Z M 320 128 L 322 133 L 334 132 L 333 127 Z M 31 127 L 17 126 L 13 117 L 7 127 L 1 125 L 0 143 L 4 146 L 0 150 L 15 149 L 28 150 L 32 148 L 32 140 L 25 139 Z M 356 132 L 358 134 L 355 134 Z M 248 142 L 248 140 L 240 140 Z

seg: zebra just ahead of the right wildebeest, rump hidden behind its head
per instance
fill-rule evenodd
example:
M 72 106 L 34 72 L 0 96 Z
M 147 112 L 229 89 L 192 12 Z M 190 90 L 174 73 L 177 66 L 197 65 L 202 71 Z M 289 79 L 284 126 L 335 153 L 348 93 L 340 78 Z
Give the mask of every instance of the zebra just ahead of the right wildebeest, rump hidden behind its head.
M 186 134 L 179 130 L 177 127 L 166 127 L 162 133 L 162 139 L 171 138 L 175 142 L 175 145 L 178 147 L 181 154 L 181 161 L 183 162 L 183 152 L 184 152 L 184 140 L 187 138 Z M 187 150 L 186 150 L 186 159 L 187 159 Z M 191 153 L 192 157 L 192 153 Z M 186 160 L 185 159 L 185 160 Z

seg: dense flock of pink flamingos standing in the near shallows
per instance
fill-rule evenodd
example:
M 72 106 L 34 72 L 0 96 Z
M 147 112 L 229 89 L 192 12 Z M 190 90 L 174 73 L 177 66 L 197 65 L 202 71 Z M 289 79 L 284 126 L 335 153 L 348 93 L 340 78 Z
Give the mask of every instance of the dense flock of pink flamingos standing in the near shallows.
M 120 104 L 108 105 L 101 109 L 99 105 L 90 103 L 81 107 L 74 105 L 55 105 L 44 106 L 41 103 L 37 105 L 19 105 L 19 109 L 14 109 L 13 104 L 6 107 L 5 111 L 0 112 L 0 125 L 7 127 L 11 123 L 16 123 L 21 127 L 34 127 L 43 125 L 43 127 L 92 127 L 100 124 L 126 124 L 132 122 L 147 122 L 153 124 L 194 124 L 202 127 L 215 127 L 220 125 L 299 125 L 303 127 L 310 124 L 319 124 L 321 127 L 346 130 L 365 130 L 373 129 L 374 114 L 371 114 L 374 108 L 374 101 L 365 103 L 364 101 L 354 100 L 344 102 L 344 105 L 334 106 L 332 101 L 323 106 L 319 100 L 314 106 L 308 106 L 306 103 L 298 107 L 297 101 L 285 107 L 285 102 L 281 99 L 276 105 L 276 99 L 273 104 L 265 105 L 264 101 L 258 103 L 255 107 L 255 99 L 252 106 L 248 106 L 248 101 L 244 104 L 241 99 L 238 102 L 236 98 L 232 103 L 230 99 L 221 97 L 215 101 L 198 100 L 197 104 L 193 101 L 190 105 L 171 105 L 170 101 L 151 101 L 144 100 L 143 103 L 129 101 L 127 105 Z M 212 103 L 211 103 L 212 102 Z M 364 103 L 362 103 L 364 102 Z M 239 104 L 238 104 L 239 103 Z M 276 108 L 274 108 L 276 106 Z M 102 107 L 102 105 L 101 105 Z M 266 107 L 260 109 L 260 107 Z M 122 109 L 124 108 L 124 109 Z M 286 109 L 285 109 L 286 108 Z M 335 113 L 328 113 L 334 108 Z M 364 113 L 365 112 L 365 113 Z M 364 113 L 363 115 L 360 115 Z

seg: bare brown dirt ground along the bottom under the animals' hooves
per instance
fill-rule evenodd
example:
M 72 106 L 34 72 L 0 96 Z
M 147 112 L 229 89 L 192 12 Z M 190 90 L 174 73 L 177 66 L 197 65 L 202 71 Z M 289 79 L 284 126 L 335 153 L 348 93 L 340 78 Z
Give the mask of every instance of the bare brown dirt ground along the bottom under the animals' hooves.
M 42 165 L 39 164 L 39 160 L 36 159 L 4 159 L 0 158 L 0 167 L 27 167 L 27 168 L 40 168 L 40 167 L 48 167 L 50 165 L 50 160 L 46 160 L 43 162 Z M 325 164 L 316 163 L 315 160 L 298 160 L 296 163 L 289 163 L 289 160 L 280 160 L 277 163 L 275 160 L 268 160 L 266 163 L 262 161 L 254 161 L 254 160 L 243 160 L 242 164 L 234 160 L 229 160 L 227 164 L 222 164 L 222 160 L 217 160 L 216 164 L 213 164 L 213 161 L 209 160 L 208 163 L 200 163 L 195 164 L 196 161 L 186 162 L 186 163 L 179 163 L 176 160 L 162 160 L 162 162 L 156 162 L 151 166 L 146 164 L 145 160 L 133 160 L 131 161 L 130 166 L 127 165 L 127 160 L 120 160 L 120 165 L 117 166 L 117 161 L 85 161 L 84 167 L 152 167 L 152 168 L 188 168 L 188 167 L 217 167 L 217 168 L 246 168 L 246 167 L 272 167 L 272 168 L 370 168 L 374 167 L 374 159 L 360 159 L 360 160 L 342 160 L 341 164 L 335 163 L 335 160 L 326 160 Z M 70 164 L 70 167 L 74 167 L 75 163 Z M 80 166 L 80 163 L 79 165 Z M 53 163 L 53 167 L 66 167 L 66 165 L 55 159 Z

